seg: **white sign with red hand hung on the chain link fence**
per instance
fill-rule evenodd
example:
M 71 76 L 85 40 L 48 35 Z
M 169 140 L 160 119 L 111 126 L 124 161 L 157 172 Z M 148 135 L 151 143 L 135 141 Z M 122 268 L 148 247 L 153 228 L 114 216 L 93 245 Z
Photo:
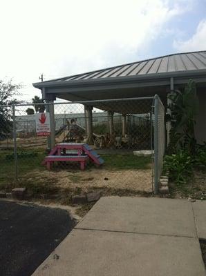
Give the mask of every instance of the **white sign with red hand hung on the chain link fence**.
M 49 136 L 50 135 L 49 112 L 36 113 L 35 120 L 36 120 L 37 136 Z

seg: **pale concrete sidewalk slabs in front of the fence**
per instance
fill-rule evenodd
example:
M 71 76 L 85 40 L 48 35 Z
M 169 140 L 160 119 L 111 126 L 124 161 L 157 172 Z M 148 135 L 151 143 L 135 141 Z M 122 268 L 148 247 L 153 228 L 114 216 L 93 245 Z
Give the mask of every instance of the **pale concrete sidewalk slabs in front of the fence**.
M 103 197 L 33 276 L 203 276 L 206 201 Z

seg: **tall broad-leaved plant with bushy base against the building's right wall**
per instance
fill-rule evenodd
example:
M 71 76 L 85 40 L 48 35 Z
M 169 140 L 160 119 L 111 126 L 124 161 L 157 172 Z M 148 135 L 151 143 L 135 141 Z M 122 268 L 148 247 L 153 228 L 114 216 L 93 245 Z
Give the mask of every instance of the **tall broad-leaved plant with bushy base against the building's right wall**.
M 195 82 L 189 80 L 183 92 L 178 90 L 169 99 L 171 133 L 164 170 L 176 184 L 186 184 L 194 168 L 206 169 L 206 146 L 197 145 L 194 135 L 198 115 Z

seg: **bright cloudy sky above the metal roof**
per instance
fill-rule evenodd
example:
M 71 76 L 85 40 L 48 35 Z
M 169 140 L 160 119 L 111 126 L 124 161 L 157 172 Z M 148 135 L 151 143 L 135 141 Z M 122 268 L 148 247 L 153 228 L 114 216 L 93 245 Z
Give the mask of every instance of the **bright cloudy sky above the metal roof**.
M 206 0 L 0 0 L 0 79 L 32 83 L 206 50 Z

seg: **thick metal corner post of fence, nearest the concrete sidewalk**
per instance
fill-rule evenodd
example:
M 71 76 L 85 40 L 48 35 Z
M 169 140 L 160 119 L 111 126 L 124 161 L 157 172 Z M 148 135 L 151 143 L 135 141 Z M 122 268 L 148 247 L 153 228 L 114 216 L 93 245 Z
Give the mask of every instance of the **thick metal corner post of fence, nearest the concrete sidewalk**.
M 159 158 L 159 148 L 158 148 L 158 109 L 159 109 L 159 99 L 158 95 L 155 95 L 155 108 L 154 108 L 154 193 L 158 194 L 159 188 L 159 177 L 158 177 L 158 158 Z

